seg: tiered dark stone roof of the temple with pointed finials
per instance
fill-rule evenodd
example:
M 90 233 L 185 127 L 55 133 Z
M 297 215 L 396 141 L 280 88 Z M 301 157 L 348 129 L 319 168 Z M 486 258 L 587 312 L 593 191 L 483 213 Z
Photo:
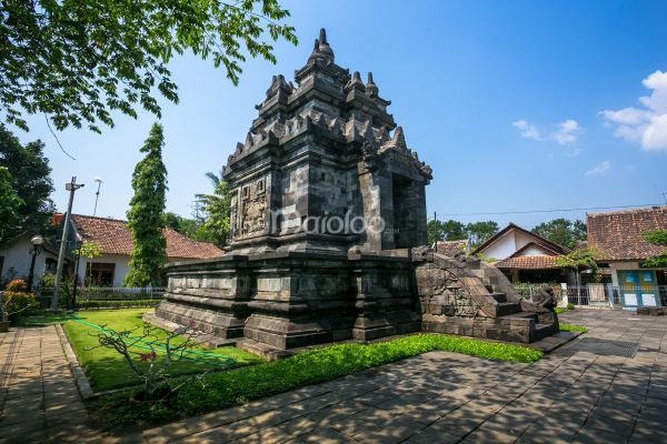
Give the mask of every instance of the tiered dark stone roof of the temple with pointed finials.
M 387 113 L 391 102 L 379 97 L 372 73 L 368 72 L 364 83 L 358 71 L 350 75 L 349 70 L 337 65 L 323 29 L 306 65 L 296 72 L 296 80 L 297 87 L 282 74 L 272 77 L 265 101 L 256 107 L 259 117 L 246 141 L 238 143 L 229 157 L 226 173 L 262 148 L 286 145 L 306 132 L 317 131 L 338 145 L 357 149 L 365 160 L 394 152 L 430 179 L 430 168 L 408 148 L 402 129 L 396 128 Z

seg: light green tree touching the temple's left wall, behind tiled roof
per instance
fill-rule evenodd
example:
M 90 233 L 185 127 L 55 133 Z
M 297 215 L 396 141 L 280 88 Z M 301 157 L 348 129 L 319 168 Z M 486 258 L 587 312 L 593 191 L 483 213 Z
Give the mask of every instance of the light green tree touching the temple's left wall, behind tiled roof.
M 197 238 L 222 248 L 227 245 L 229 239 L 231 196 L 227 182 L 222 180 L 221 171 L 219 176 L 212 172 L 207 172 L 206 176 L 213 185 L 213 193 L 196 195 L 202 219 L 202 223 L 197 230 Z

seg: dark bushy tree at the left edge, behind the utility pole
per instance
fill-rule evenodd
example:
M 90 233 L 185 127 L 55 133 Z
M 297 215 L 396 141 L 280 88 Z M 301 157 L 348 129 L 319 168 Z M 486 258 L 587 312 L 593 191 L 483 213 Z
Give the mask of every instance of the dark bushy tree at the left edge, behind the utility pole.
M 50 229 L 56 208 L 49 198 L 53 191 L 53 181 L 43 149 L 44 144 L 39 140 L 23 147 L 16 135 L 0 124 L 0 167 L 9 170 L 11 188 L 23 201 L 18 210 L 19 220 L 7 232 L 8 236 L 23 230 L 47 234 Z

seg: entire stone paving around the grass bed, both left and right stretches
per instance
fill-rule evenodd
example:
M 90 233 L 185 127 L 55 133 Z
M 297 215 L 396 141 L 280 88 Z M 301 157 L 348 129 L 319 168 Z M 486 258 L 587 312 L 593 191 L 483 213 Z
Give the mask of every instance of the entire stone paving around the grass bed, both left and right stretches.
M 667 442 L 667 316 L 577 310 L 561 320 L 590 331 L 532 365 L 432 352 L 126 440 Z M 0 441 L 100 441 L 88 428 L 54 329 L 19 330 L 0 341 L 0 365 L 9 369 L 1 374 L 11 375 Z

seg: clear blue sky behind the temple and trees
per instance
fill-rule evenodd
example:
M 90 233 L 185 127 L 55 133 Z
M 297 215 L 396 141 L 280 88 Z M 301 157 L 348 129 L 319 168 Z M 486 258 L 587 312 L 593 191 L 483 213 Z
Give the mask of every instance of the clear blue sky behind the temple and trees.
M 372 71 L 408 145 L 434 169 L 429 214 L 631 205 L 667 192 L 667 2 L 664 1 L 286 1 L 298 47 L 278 63 L 251 60 L 238 87 L 210 61 L 170 68 L 180 104 L 166 101 L 167 210 L 190 214 L 203 176 L 219 171 L 256 117 L 272 74 L 305 64 L 325 27 L 336 62 Z M 654 74 L 651 77 L 651 74 Z M 649 99 L 640 98 L 648 97 Z M 139 148 L 155 117 L 116 117 L 102 135 L 59 134 L 29 119 L 22 141 L 42 139 L 60 210 L 64 183 L 86 183 L 74 212 L 125 218 Z M 451 215 L 526 228 L 585 211 Z

